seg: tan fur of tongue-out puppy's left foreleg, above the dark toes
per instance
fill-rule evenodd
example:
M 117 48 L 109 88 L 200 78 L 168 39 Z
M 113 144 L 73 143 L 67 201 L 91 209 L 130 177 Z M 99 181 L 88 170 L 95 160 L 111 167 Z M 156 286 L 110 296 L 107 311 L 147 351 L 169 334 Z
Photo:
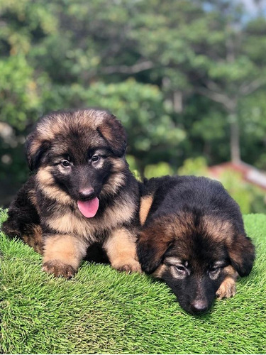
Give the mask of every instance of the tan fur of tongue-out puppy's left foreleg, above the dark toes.
M 45 240 L 43 263 L 60 261 L 77 270 L 80 261 L 86 255 L 87 246 L 74 236 L 55 234 Z

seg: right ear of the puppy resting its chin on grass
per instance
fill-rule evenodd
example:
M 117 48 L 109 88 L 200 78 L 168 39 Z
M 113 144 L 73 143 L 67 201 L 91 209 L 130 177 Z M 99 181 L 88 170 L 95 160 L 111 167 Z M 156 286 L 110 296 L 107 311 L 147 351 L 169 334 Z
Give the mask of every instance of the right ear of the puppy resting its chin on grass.
M 255 260 L 255 246 L 248 236 L 235 234 L 228 245 L 228 253 L 233 268 L 240 276 L 247 276 L 253 268 Z

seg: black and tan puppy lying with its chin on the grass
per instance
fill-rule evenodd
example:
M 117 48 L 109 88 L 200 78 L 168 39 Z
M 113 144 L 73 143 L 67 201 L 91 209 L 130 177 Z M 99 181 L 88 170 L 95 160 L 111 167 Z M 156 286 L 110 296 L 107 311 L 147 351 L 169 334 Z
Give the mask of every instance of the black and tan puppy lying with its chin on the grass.
M 237 276 L 253 267 L 255 248 L 240 209 L 220 182 L 194 176 L 146 180 L 140 223 L 143 271 L 165 280 L 192 314 L 209 310 L 215 296 L 235 295 Z

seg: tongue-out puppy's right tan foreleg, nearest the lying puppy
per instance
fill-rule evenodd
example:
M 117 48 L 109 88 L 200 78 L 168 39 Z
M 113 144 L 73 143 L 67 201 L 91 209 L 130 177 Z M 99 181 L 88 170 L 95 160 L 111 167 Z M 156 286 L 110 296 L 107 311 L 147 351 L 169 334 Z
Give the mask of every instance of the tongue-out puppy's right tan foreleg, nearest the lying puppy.
M 127 229 L 113 231 L 104 244 L 111 266 L 118 271 L 141 272 L 136 253 L 135 235 Z

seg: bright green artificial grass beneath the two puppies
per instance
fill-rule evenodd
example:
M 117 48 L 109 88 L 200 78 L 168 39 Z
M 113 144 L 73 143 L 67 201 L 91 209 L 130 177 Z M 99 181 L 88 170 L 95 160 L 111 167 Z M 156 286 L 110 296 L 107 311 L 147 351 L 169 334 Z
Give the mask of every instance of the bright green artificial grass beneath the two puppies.
M 253 271 L 238 280 L 235 297 L 201 316 L 146 275 L 84 262 L 74 279 L 53 278 L 33 249 L 1 233 L 0 352 L 265 354 L 266 216 L 244 221 L 257 248 Z

